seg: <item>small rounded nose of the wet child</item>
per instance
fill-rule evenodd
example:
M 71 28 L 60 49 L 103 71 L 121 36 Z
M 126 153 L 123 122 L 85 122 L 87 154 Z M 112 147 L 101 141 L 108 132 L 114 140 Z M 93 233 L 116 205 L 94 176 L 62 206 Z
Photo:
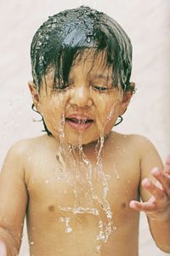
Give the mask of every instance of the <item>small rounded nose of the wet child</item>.
M 79 108 L 89 108 L 92 105 L 90 88 L 85 85 L 75 86 L 71 96 L 71 104 Z

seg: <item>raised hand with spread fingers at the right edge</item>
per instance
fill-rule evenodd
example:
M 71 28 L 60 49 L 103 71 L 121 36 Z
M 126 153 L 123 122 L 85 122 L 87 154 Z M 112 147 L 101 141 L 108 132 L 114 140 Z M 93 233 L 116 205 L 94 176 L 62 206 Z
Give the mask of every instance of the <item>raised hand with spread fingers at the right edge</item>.
M 136 211 L 142 211 L 149 218 L 165 220 L 170 218 L 170 155 L 167 157 L 163 171 L 155 167 L 151 174 L 156 178 L 156 184 L 149 178 L 144 178 L 142 186 L 150 194 L 150 200 L 145 202 L 130 201 L 129 207 Z

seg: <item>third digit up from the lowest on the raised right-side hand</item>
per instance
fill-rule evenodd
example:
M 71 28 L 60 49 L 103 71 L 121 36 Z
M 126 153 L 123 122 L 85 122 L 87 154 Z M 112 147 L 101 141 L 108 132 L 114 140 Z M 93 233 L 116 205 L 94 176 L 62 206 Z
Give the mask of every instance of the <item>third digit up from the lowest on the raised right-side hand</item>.
M 168 177 L 166 173 L 161 172 L 159 168 L 152 169 L 151 173 L 156 177 L 157 181 L 161 183 L 162 190 L 170 196 L 170 176 Z

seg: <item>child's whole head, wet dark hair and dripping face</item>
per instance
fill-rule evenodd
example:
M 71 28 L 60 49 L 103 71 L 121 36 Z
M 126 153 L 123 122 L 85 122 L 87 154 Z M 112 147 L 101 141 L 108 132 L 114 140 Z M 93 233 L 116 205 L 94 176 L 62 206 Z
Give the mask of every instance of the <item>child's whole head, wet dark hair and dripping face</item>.
M 71 144 L 77 144 L 77 130 L 82 143 L 108 134 L 119 113 L 116 105 L 128 102 L 122 91 L 133 91 L 130 39 L 116 20 L 85 6 L 50 16 L 39 27 L 31 42 L 31 69 L 31 93 L 45 131 L 65 134 Z M 67 89 L 57 90 L 65 84 Z

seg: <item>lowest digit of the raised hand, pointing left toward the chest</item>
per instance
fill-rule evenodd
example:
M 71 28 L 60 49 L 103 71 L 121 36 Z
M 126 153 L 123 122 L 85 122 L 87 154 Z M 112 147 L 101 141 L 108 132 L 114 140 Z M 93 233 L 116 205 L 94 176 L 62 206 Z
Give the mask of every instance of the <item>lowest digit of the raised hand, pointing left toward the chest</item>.
M 153 212 L 156 210 L 156 205 L 151 204 L 149 201 L 130 201 L 129 207 L 138 212 Z

